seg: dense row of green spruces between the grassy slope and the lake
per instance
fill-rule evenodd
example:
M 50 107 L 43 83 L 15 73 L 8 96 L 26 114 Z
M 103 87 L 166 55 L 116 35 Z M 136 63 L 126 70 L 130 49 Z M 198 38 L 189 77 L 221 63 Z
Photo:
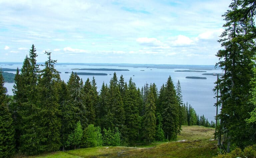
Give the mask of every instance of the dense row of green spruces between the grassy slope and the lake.
M 181 125 L 214 127 L 182 101 L 180 82 L 171 77 L 158 92 L 156 85 L 137 88 L 113 74 L 97 92 L 95 79 L 72 72 L 67 83 L 48 56 L 44 69 L 36 64 L 32 45 L 17 68 L 13 97 L 5 95 L 0 73 L 0 157 L 95 146 L 129 146 L 138 142 L 176 140 Z

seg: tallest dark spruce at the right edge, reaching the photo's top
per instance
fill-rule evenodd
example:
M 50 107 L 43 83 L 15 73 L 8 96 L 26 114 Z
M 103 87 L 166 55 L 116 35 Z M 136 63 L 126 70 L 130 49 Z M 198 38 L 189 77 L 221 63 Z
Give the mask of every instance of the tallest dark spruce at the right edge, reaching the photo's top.
M 230 10 L 223 15 L 226 21 L 225 31 L 220 36 L 219 42 L 224 49 L 219 50 L 216 55 L 219 58 L 217 66 L 224 71 L 218 80 L 222 106 L 219 115 L 221 119 L 219 133 L 225 132 L 228 138 L 227 152 L 230 150 L 230 142 L 241 148 L 255 142 L 255 128 L 251 128 L 245 122 L 253 108 L 249 103 L 248 93 L 249 82 L 253 77 L 252 68 L 255 64 L 253 62 L 255 43 L 253 38 L 248 37 L 252 34 L 255 36 L 255 32 L 251 29 L 252 26 L 254 27 L 254 19 L 244 16 L 239 11 L 243 9 L 243 4 L 248 2 L 233 0 L 229 6 Z M 255 7 L 255 4 L 252 6 Z M 249 14 L 251 13 L 254 14 L 254 12 Z

